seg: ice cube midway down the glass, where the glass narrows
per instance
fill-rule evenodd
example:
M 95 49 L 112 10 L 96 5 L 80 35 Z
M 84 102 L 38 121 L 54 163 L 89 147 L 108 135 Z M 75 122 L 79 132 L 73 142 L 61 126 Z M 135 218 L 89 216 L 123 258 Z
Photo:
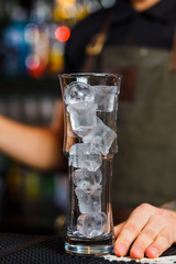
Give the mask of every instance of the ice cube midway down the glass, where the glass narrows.
M 91 144 L 76 143 L 69 150 L 69 165 L 96 172 L 102 164 L 101 153 Z

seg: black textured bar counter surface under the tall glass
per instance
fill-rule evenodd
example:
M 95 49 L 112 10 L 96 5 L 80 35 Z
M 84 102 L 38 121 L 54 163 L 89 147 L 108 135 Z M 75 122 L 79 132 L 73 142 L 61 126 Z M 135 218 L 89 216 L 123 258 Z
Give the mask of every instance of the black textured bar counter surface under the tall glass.
M 176 245 L 164 254 L 176 255 Z M 64 238 L 58 235 L 35 235 L 0 233 L 0 264 L 111 264 L 127 263 L 124 261 L 109 262 L 103 257 L 77 256 L 67 254 L 64 250 Z M 139 263 L 134 260 L 130 264 Z M 144 262 L 143 262 L 144 263 Z M 147 260 L 145 263 L 148 263 Z M 158 262 L 153 262 L 158 263 Z M 176 256 L 175 262 L 176 263 Z

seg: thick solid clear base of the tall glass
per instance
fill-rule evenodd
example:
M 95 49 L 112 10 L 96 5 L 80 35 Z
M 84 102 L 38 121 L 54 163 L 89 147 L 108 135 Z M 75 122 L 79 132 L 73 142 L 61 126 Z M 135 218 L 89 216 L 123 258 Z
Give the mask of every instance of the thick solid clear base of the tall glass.
M 107 255 L 113 253 L 112 239 L 106 241 L 86 241 L 66 239 L 65 251 L 77 255 Z

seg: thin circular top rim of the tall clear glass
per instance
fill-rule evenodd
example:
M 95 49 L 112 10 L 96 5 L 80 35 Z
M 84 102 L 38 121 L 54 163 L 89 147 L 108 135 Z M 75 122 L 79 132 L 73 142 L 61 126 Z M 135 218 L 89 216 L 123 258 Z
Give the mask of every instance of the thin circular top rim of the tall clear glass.
M 99 77 L 111 77 L 111 78 L 118 78 L 119 80 L 122 78 L 121 74 L 110 74 L 110 73 L 72 73 L 72 74 L 58 74 L 58 77 L 65 77 L 65 78 L 76 78 L 76 77 L 91 77 L 91 78 L 99 78 Z

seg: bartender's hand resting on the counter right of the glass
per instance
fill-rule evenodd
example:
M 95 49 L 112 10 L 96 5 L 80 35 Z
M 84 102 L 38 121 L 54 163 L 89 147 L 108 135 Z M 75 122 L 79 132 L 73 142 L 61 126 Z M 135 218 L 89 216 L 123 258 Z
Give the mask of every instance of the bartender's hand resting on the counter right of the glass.
M 142 204 L 129 219 L 114 227 L 114 253 L 142 258 L 158 257 L 176 242 L 176 211 Z

